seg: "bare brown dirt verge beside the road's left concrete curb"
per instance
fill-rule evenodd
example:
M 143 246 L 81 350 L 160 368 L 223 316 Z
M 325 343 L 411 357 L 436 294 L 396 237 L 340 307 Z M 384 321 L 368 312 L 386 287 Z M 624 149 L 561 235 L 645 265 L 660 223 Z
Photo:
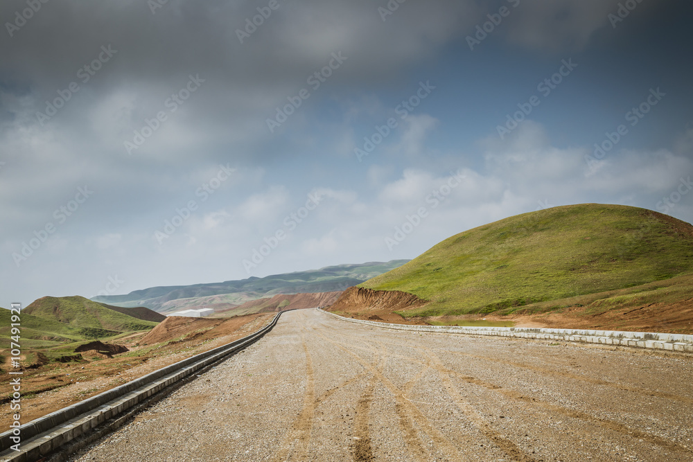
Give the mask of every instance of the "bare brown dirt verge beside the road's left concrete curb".
M 123 344 L 130 351 L 115 355 L 104 355 L 97 350 L 89 350 L 66 356 L 64 362 L 49 362 L 42 353 L 30 354 L 33 358 L 30 361 L 28 357 L 22 358 L 24 375 L 21 378 L 21 421 L 26 423 L 45 416 L 158 368 L 250 335 L 270 323 L 273 317 L 274 314 L 268 313 L 231 319 L 173 319 L 169 327 L 175 326 L 174 328 L 159 330 L 157 335 L 161 343 L 145 346 L 141 343 L 141 333 L 130 335 L 118 340 L 119 344 Z M 204 321 L 212 321 L 212 324 Z M 199 328 L 202 325 L 207 328 L 190 330 L 192 335 L 186 335 L 184 326 Z M 179 331 L 178 328 L 182 330 Z M 176 341 L 170 341 L 173 339 Z M 6 353 L 0 350 L 0 355 Z M 8 361 L 9 359 L 7 357 Z M 4 366 L 5 370 L 10 368 L 9 364 Z M 1 422 L 9 422 L 13 412 L 5 403 L 8 402 L 8 397 L 12 396 L 10 380 L 14 377 L 8 373 L 0 373 Z

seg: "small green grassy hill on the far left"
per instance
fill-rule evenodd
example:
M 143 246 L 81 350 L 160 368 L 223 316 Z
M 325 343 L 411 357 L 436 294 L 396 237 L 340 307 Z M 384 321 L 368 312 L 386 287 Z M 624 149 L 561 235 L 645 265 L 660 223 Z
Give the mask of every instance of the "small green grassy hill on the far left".
M 130 330 L 146 330 L 157 323 L 105 308 L 82 296 L 44 296 L 28 305 L 22 314 L 65 323 L 82 337 L 96 338 Z

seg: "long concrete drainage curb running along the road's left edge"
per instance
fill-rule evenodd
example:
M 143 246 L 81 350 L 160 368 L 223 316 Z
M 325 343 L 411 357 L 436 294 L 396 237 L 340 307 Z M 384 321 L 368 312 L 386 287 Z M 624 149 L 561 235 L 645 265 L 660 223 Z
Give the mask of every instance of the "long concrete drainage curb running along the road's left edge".
M 184 377 L 219 362 L 232 353 L 253 344 L 279 321 L 285 310 L 277 313 L 272 322 L 254 334 L 232 341 L 170 364 L 139 379 L 104 391 L 96 396 L 59 409 L 19 427 L 19 451 L 12 449 L 14 430 L 0 434 L 0 460 L 3 462 L 33 462 L 58 450 L 62 445 L 89 432 L 106 420 L 112 419 L 155 393 L 166 389 Z M 16 436 L 15 436 L 16 438 Z

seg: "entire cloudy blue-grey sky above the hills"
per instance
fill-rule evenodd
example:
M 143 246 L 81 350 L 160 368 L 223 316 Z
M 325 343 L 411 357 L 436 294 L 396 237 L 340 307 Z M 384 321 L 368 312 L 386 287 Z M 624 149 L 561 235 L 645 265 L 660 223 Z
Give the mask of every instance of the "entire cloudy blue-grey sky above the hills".
M 400 0 L 402 1 L 402 0 Z M 693 221 L 687 0 L 5 0 L 0 305 Z

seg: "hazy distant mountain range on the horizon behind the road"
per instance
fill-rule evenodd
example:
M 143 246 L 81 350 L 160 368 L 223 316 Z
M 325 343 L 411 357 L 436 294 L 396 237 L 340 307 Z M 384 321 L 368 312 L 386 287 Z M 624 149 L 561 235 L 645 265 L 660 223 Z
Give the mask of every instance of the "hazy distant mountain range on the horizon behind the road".
M 264 278 L 193 285 L 173 285 L 135 290 L 127 295 L 95 296 L 91 300 L 125 308 L 146 306 L 160 313 L 189 308 L 226 310 L 248 301 L 277 294 L 338 292 L 404 265 L 409 260 L 387 263 L 336 265 Z

